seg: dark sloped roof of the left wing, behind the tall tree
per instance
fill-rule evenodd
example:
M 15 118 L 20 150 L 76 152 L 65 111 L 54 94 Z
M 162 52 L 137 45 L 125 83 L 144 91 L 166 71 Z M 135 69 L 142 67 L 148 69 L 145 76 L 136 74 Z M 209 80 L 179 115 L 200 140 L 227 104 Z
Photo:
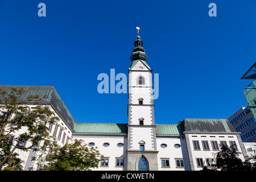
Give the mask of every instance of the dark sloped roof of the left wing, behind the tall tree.
M 0 85 L 0 87 L 5 90 L 7 94 L 11 93 L 11 88 L 23 88 L 24 90 L 27 90 L 27 93 L 23 93 L 18 98 L 18 101 L 27 101 L 27 97 L 33 95 L 39 96 L 43 102 L 52 102 L 60 111 L 61 115 L 63 115 L 65 120 L 69 123 L 69 125 L 72 128 L 74 127 L 74 124 L 76 123 L 75 119 L 53 86 Z M 3 100 L 1 96 L 0 100 Z

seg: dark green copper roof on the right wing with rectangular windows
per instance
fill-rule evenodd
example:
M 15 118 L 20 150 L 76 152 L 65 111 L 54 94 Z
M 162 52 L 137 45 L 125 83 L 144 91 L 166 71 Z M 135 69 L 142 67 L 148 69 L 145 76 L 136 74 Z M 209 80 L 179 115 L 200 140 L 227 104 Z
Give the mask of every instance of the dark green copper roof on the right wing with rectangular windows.
M 231 132 L 237 131 L 230 124 L 228 119 L 191 119 L 185 118 L 181 122 L 184 131 L 188 132 Z

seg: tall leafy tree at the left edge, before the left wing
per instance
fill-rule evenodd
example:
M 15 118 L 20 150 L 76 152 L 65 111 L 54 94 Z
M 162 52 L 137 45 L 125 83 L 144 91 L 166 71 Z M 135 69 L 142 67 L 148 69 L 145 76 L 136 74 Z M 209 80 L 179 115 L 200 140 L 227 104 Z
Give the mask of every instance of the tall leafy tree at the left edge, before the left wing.
M 46 144 L 55 144 L 48 132 L 48 125 L 58 117 L 46 105 L 41 105 L 39 96 L 29 96 L 27 101 L 18 98 L 27 91 L 12 88 L 10 93 L 0 88 L 0 170 L 22 170 L 23 161 L 17 150 L 40 151 Z M 33 102 L 31 109 L 28 104 Z

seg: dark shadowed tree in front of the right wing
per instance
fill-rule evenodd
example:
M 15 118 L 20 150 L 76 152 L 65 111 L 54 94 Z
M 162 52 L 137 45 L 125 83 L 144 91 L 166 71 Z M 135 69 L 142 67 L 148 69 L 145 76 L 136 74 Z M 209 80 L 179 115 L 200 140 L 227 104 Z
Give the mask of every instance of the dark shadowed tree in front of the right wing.
M 220 152 L 217 152 L 216 164 L 209 169 L 204 166 L 203 170 L 221 170 L 221 171 L 251 171 L 253 164 L 248 159 L 244 162 L 239 158 L 241 152 L 234 146 L 220 144 Z

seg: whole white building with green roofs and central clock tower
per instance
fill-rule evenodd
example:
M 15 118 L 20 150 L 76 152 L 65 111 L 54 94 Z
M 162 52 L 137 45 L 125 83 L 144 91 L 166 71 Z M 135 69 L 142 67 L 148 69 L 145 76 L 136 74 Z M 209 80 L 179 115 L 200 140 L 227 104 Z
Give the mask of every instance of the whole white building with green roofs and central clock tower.
M 82 139 L 89 147 L 98 147 L 104 158 L 93 170 L 111 171 L 198 171 L 216 161 L 220 144 L 236 148 L 245 160 L 246 149 L 240 133 L 228 119 L 190 119 L 177 125 L 157 125 L 154 117 L 152 69 L 138 35 L 130 57 L 127 105 L 128 123 L 78 123 L 61 100 L 53 86 L 0 85 L 10 92 L 12 87 L 23 88 L 26 96 L 38 95 L 41 104 L 48 105 L 60 118 L 55 126 L 48 126 L 60 145 L 69 138 Z M 33 103 L 28 102 L 31 108 Z M 62 126 L 65 130 L 61 130 Z M 18 133 L 13 134 L 19 135 Z M 40 168 L 31 161 L 35 152 L 20 153 L 25 162 L 24 170 Z

